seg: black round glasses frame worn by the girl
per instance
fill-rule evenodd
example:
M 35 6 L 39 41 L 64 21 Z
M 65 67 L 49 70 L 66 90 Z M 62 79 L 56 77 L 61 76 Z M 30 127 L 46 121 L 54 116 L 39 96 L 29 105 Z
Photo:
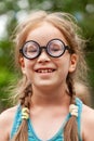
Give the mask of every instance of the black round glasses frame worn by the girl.
M 58 41 L 61 41 L 61 42 L 63 43 L 63 48 L 64 48 L 63 52 L 62 52 L 59 55 L 56 55 L 56 56 L 55 56 L 55 55 L 52 55 L 52 54 L 49 52 L 49 50 L 48 50 L 48 47 L 49 47 L 50 42 L 53 41 L 53 40 L 58 40 Z M 39 48 L 39 53 L 38 53 L 35 57 L 29 57 L 29 56 L 27 56 L 27 55 L 25 54 L 24 47 L 25 47 L 25 44 L 28 43 L 28 42 L 35 42 L 35 43 L 38 46 L 38 48 Z M 40 46 L 37 41 L 28 40 L 28 41 L 26 41 L 26 42 L 24 43 L 24 46 L 22 47 L 22 49 L 19 49 L 19 53 L 22 53 L 23 56 L 25 56 L 25 57 L 28 59 L 28 60 L 33 60 L 33 59 L 37 59 L 37 57 L 41 54 L 42 50 L 45 50 L 45 52 L 46 52 L 50 56 L 52 56 L 52 57 L 59 57 L 59 56 L 62 56 L 62 55 L 65 53 L 66 50 L 68 50 L 69 53 L 72 53 L 72 50 L 69 48 L 69 46 L 66 46 L 61 39 L 56 39 L 56 38 L 50 40 L 50 41 L 46 43 L 46 46 Z

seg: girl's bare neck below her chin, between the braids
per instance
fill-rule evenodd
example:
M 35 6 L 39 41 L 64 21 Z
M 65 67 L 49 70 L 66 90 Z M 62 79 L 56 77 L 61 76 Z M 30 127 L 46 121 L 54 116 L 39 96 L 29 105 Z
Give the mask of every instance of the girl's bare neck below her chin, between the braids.
M 32 87 L 31 101 L 33 105 L 50 106 L 50 105 L 69 105 L 70 97 L 66 92 L 65 88 L 53 88 L 53 89 L 36 89 Z

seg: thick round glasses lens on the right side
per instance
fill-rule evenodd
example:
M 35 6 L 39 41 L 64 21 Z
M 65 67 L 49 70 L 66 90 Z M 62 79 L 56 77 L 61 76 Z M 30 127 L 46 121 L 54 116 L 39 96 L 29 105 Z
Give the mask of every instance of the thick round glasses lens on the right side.
M 61 56 L 65 52 L 65 46 L 61 40 L 52 40 L 48 44 L 48 53 L 51 56 Z

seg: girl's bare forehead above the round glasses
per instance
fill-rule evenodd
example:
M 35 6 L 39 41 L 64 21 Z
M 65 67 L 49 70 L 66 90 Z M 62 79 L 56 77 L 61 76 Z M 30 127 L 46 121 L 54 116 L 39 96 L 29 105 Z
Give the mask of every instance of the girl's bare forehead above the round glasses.
M 59 29 L 49 23 L 41 23 L 36 28 L 29 30 L 26 40 L 35 40 L 40 44 L 48 43 L 51 39 L 62 39 L 66 44 L 67 41 Z

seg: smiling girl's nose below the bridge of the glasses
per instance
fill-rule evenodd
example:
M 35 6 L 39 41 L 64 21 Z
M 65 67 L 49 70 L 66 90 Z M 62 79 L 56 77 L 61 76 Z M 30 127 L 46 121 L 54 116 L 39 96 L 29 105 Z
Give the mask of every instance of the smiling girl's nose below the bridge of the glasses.
M 50 62 L 50 56 L 46 54 L 45 50 L 42 50 L 41 54 L 37 60 L 39 63 Z

